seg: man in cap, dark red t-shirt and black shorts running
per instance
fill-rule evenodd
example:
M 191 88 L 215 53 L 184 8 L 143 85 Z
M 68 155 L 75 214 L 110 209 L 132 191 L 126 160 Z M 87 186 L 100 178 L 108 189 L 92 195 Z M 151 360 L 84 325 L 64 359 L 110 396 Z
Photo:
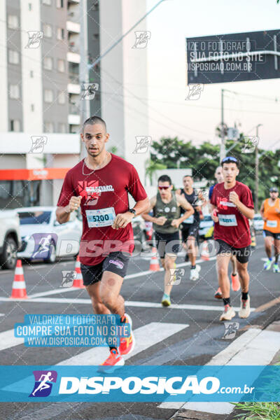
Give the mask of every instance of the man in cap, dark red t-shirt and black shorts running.
M 222 290 L 225 309 L 220 321 L 230 321 L 235 311 L 230 305 L 230 281 L 228 265 L 230 256 L 236 255 L 237 272 L 241 282 L 240 318 L 250 315 L 250 297 L 248 295 L 249 274 L 248 259 L 251 255 L 251 235 L 248 219 L 254 216 L 251 190 L 236 177 L 239 174 L 239 162 L 228 156 L 221 162 L 224 182 L 214 186 L 211 197 L 214 220 L 214 239 L 218 242 L 217 271 L 219 286 Z

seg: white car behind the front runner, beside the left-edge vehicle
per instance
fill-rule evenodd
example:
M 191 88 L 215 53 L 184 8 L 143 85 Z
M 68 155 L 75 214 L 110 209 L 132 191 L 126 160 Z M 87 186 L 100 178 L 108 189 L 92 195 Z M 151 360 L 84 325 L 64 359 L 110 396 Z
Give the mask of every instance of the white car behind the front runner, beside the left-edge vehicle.
M 60 225 L 56 220 L 56 207 L 23 207 L 20 216 L 22 246 L 18 258 L 55 262 L 57 257 L 76 256 L 80 247 L 83 226 L 76 211 L 70 220 Z

